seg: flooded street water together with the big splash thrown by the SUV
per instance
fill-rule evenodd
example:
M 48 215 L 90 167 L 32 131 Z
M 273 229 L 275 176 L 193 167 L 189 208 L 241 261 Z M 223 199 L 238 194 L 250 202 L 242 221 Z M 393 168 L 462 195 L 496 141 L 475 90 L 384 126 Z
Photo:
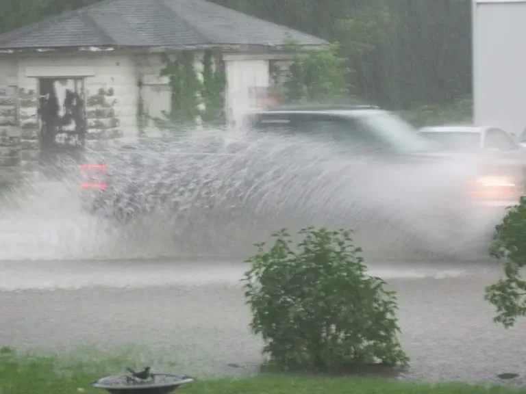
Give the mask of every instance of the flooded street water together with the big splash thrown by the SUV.
M 3 197 L 1 345 L 136 343 L 183 373 L 255 373 L 262 343 L 247 327 L 242 261 L 271 231 L 314 225 L 353 228 L 371 273 L 399 291 L 408 377 L 491 380 L 524 367 L 525 327 L 495 326 L 482 299 L 498 275 L 484 260 L 502 212 L 458 200 L 472 163 L 385 163 L 315 140 L 205 132 L 105 161 L 134 212 L 127 224 L 82 211 L 76 167 Z

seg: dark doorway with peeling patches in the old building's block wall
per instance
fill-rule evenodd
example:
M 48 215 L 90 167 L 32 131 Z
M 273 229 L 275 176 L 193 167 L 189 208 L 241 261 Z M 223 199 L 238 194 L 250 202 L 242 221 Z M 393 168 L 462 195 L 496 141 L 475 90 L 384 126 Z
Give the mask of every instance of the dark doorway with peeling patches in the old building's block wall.
M 86 107 L 83 78 L 41 78 L 38 81 L 40 169 L 62 178 L 78 163 L 86 143 Z

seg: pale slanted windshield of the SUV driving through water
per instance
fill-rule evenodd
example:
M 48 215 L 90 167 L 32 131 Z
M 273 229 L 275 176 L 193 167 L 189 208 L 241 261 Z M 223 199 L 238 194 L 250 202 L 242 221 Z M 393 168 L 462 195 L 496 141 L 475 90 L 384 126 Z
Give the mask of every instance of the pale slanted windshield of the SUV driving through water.
M 435 144 L 418 135 L 411 124 L 394 114 L 374 111 L 360 114 L 357 118 L 366 128 L 377 133 L 399 152 L 417 153 L 435 147 Z

